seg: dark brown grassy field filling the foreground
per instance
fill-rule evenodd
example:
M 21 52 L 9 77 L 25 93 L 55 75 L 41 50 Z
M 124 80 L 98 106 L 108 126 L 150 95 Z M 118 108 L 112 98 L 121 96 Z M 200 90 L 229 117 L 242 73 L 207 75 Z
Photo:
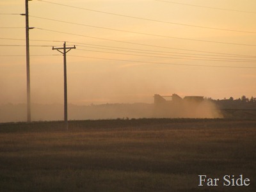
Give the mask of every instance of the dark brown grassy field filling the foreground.
M 0 124 L 0 191 L 256 191 L 256 120 Z M 243 174 L 248 187 L 199 187 Z

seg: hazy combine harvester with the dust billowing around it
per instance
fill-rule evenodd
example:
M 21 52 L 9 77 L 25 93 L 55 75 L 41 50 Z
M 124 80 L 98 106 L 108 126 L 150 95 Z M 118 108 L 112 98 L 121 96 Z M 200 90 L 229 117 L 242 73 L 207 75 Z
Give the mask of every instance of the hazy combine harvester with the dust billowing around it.
M 202 96 L 154 95 L 156 118 L 221 118 L 215 105 Z

